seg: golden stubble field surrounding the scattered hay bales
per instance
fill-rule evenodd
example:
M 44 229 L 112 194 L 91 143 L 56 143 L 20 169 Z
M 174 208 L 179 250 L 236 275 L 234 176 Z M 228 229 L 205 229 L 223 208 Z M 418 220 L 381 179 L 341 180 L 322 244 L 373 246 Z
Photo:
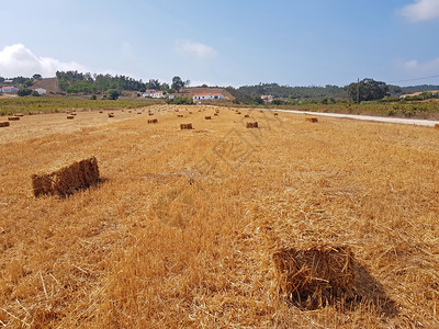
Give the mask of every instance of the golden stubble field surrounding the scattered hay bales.
M 0 129 L 0 326 L 437 328 L 437 129 L 143 110 Z M 33 196 L 33 173 L 89 156 L 98 186 Z M 322 243 L 352 250 L 358 296 L 301 307 L 272 256 Z

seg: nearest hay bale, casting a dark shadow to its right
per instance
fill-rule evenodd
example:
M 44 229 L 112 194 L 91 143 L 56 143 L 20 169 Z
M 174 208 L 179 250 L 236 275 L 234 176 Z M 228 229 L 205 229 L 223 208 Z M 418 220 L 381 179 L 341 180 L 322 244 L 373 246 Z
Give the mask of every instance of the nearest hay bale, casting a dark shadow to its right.
M 356 295 L 358 269 L 347 246 L 283 248 L 273 253 L 279 293 L 308 308 Z

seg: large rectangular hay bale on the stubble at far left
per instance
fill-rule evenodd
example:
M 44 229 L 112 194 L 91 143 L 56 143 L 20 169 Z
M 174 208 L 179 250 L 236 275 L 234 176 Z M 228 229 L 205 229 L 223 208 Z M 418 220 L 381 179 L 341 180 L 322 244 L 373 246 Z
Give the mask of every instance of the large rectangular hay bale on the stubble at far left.
M 65 197 L 98 182 L 99 168 L 98 160 L 94 157 L 74 162 L 48 174 L 32 175 L 32 188 L 36 197 L 44 194 Z

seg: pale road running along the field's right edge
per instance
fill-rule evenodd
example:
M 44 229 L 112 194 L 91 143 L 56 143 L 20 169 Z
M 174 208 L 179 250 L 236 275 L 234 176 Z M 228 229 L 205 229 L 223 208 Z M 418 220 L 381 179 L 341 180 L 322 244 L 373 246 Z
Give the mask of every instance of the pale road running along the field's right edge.
M 385 122 L 385 123 L 395 123 L 395 124 L 404 124 L 404 125 L 429 126 L 429 127 L 434 127 L 435 124 L 439 125 L 439 121 L 431 121 L 431 120 L 382 117 L 382 116 L 338 114 L 338 113 L 320 113 L 320 112 L 306 112 L 306 111 L 295 111 L 295 110 L 267 110 L 267 109 L 258 109 L 258 110 L 297 113 L 297 114 L 311 114 L 311 115 L 320 115 L 320 116 L 329 116 L 329 117 L 353 118 L 353 120 L 362 120 L 362 121 Z

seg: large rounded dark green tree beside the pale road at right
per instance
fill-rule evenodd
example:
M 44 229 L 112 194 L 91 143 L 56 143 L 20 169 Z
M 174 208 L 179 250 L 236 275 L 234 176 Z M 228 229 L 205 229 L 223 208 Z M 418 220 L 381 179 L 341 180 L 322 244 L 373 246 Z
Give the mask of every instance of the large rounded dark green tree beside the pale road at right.
M 382 81 L 363 79 L 360 82 L 352 82 L 345 87 L 349 98 L 357 102 L 381 100 L 389 92 L 389 86 Z

